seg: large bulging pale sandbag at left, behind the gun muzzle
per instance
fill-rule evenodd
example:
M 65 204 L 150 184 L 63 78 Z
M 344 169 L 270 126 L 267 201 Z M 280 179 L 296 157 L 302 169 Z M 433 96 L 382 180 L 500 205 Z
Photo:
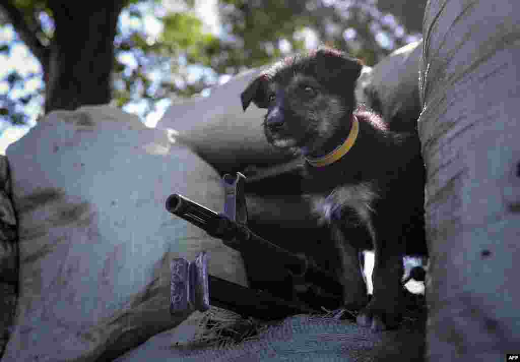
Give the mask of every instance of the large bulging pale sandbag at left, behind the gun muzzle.
M 174 257 L 205 250 L 210 273 L 246 285 L 238 252 L 164 207 L 181 193 L 222 209 L 217 173 L 137 117 L 108 106 L 55 111 L 7 157 L 20 295 L 3 362 L 111 360 L 177 326 Z

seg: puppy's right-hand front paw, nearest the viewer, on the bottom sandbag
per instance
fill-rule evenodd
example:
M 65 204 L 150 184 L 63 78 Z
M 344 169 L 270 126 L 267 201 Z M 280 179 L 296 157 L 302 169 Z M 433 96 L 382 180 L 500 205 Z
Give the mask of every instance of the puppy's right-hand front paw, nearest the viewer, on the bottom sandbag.
M 398 300 L 372 298 L 367 307 L 357 316 L 359 326 L 368 327 L 372 331 L 383 331 L 397 327 L 402 317 L 402 306 Z

